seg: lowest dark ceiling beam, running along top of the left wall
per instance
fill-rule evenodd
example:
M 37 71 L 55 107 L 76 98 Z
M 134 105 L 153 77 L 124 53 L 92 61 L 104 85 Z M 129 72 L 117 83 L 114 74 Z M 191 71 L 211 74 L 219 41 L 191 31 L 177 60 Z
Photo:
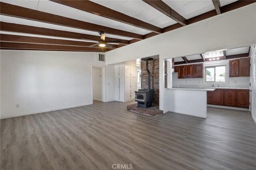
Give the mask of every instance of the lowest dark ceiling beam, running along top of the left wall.
M 4 49 L 46 49 L 46 50 L 65 50 L 65 51 L 102 51 L 99 47 L 79 47 L 68 45 L 49 45 L 49 44 L 34 44 L 34 43 L 12 43 L 0 42 L 0 47 Z M 106 48 L 103 51 L 107 51 Z

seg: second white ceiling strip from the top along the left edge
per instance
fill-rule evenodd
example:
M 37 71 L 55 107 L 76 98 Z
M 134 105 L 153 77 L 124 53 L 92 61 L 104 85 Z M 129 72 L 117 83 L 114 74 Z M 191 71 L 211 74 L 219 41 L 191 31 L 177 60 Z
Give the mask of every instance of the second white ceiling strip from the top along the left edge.
M 48 24 L 48 23 L 38 22 L 38 21 L 31 21 L 31 20 L 26 20 L 26 19 L 22 19 L 22 18 L 15 18 L 15 17 L 10 17 L 10 16 L 0 15 L 0 20 L 2 22 L 22 24 L 22 25 L 27 25 L 27 26 L 35 26 L 35 27 L 40 27 L 40 28 L 49 28 L 49 29 L 62 30 L 62 31 L 68 31 L 68 32 L 76 32 L 76 33 L 82 33 L 82 34 L 90 34 L 90 35 L 100 37 L 98 32 L 87 31 L 87 30 L 65 27 L 65 26 L 58 26 L 58 25 L 54 25 L 54 24 Z M 122 40 L 132 40 L 132 38 L 115 36 L 115 35 L 111 35 L 111 34 L 106 34 L 106 37 L 117 38 L 117 39 L 122 39 Z

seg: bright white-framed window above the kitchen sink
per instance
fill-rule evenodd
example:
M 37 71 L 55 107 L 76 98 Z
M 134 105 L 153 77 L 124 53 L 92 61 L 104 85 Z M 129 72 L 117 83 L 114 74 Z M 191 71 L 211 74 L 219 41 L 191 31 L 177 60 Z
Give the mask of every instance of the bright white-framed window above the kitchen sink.
M 226 65 L 204 67 L 205 83 L 225 83 Z

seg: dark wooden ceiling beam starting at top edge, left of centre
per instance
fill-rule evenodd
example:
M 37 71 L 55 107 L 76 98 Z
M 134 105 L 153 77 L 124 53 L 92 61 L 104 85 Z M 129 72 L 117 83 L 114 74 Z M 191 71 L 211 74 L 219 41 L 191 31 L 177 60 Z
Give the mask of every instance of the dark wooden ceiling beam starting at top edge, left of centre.
M 112 10 L 100 4 L 91 2 L 89 0 L 51 0 L 51 1 L 56 2 L 58 4 L 65 5 L 65 6 L 69 6 L 72 8 L 76 8 L 78 10 L 89 12 L 91 14 L 102 16 L 104 18 L 122 22 L 124 24 L 142 28 L 144 30 L 149 30 L 157 34 L 162 33 L 162 28 L 159 28 L 152 24 L 148 24 L 147 22 L 143 22 L 141 20 L 125 15 L 121 12 Z

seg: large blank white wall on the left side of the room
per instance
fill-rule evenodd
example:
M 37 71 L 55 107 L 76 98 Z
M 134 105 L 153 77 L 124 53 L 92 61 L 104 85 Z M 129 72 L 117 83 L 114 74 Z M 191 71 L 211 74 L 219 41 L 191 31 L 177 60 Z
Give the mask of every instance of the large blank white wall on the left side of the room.
M 1 119 L 92 104 L 92 65 L 105 65 L 97 57 L 94 52 L 0 50 Z

